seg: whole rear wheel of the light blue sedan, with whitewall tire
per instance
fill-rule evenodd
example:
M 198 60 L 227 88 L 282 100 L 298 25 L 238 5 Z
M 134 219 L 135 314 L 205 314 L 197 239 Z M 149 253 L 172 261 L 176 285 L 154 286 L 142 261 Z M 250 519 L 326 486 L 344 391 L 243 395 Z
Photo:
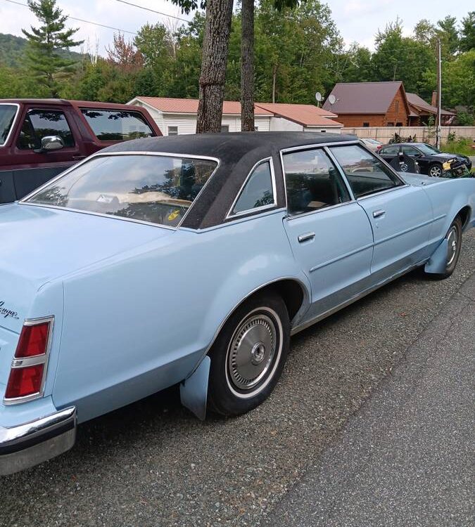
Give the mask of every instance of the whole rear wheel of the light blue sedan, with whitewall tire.
M 240 415 L 265 401 L 284 368 L 289 341 L 289 313 L 278 294 L 258 294 L 237 308 L 210 350 L 208 408 Z

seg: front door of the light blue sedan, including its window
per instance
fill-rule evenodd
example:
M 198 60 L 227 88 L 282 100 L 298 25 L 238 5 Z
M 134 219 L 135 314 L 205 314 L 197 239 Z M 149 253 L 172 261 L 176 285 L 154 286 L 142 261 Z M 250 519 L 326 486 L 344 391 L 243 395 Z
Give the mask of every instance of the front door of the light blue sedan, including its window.
M 372 226 L 372 281 L 377 284 L 429 257 L 433 212 L 424 190 L 406 185 L 359 145 L 336 146 L 331 152 Z

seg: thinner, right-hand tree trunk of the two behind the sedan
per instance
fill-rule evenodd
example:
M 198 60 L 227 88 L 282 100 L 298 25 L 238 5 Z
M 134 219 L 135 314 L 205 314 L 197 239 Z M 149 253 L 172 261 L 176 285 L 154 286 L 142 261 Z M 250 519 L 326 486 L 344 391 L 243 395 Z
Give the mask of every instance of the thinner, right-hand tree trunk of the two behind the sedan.
M 254 131 L 254 0 L 242 0 L 241 19 L 241 130 Z

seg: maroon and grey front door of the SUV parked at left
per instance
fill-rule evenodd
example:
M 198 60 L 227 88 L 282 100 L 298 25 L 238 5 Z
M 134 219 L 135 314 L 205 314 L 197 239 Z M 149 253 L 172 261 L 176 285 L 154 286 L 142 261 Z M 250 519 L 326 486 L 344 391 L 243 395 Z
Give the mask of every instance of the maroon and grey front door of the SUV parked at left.
M 12 145 L 19 164 L 13 167 L 16 199 L 21 199 L 82 158 L 80 138 L 70 108 L 29 105 L 18 121 Z M 60 150 L 35 152 L 44 136 L 57 135 L 65 146 Z

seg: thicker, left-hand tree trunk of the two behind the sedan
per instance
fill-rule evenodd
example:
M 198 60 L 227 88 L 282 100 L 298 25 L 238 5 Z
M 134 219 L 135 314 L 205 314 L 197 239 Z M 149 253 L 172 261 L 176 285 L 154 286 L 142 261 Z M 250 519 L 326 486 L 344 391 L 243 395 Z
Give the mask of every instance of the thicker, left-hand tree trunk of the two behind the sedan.
M 232 0 L 208 0 L 196 134 L 220 132 Z

